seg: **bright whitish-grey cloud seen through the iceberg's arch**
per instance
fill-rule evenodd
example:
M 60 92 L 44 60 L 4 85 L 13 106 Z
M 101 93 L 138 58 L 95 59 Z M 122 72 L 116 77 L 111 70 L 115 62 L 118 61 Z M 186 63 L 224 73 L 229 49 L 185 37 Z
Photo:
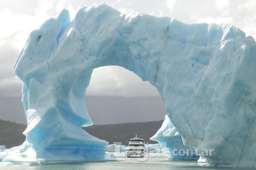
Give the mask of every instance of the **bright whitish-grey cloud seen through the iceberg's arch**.
M 86 90 L 88 96 L 159 96 L 148 81 L 119 66 L 96 68 Z

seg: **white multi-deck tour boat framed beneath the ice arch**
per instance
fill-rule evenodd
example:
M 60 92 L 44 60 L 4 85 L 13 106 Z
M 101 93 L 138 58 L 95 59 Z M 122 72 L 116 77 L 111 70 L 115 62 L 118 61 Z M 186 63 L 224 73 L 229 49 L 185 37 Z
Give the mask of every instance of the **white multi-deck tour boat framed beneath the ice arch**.
M 136 136 L 129 140 L 128 148 L 126 149 L 127 157 L 143 157 L 145 153 L 145 142 L 143 139 Z

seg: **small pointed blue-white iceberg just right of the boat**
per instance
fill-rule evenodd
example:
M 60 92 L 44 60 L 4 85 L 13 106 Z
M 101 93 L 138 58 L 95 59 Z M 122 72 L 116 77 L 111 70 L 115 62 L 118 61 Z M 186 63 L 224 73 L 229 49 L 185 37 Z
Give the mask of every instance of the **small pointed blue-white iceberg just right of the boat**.
M 165 148 L 168 153 L 168 160 L 172 161 L 197 161 L 199 156 L 195 155 L 195 149 L 193 147 L 185 146 L 182 141 L 182 137 L 177 132 L 175 127 L 172 125 L 168 115 L 165 116 L 162 126 L 157 133 L 150 138 L 151 140 L 157 141 L 161 147 Z M 183 149 L 185 155 L 178 155 L 174 149 Z M 186 150 L 191 153 L 186 153 Z M 175 151 L 175 152 L 174 152 Z M 172 154 L 176 153 L 176 154 Z M 187 155 L 186 155 L 187 154 Z

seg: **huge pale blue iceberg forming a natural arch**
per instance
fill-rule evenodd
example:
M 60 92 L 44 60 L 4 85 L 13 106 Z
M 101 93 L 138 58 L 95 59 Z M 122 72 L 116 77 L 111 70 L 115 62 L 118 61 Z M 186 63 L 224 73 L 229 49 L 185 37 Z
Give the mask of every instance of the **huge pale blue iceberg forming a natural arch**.
M 118 65 L 157 88 L 183 144 L 209 166 L 256 167 L 256 42 L 235 26 L 82 7 L 31 32 L 17 57 L 26 142 L 0 152 L 17 164 L 108 160 L 91 136 L 84 94 L 94 68 Z M 157 114 L 157 113 L 156 113 Z M 146 116 L 146 115 L 145 115 Z

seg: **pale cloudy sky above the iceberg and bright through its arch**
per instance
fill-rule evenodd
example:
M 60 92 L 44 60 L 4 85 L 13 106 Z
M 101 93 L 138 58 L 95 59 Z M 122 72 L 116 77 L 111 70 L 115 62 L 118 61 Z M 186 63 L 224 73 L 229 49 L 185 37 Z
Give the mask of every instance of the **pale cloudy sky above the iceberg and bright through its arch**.
M 14 62 L 29 33 L 67 8 L 73 18 L 81 6 L 106 3 L 121 12 L 138 11 L 183 23 L 227 23 L 256 38 L 256 0 L 0 0 L 0 96 L 20 96 Z M 105 84 L 108 82 L 107 84 Z M 156 89 L 120 67 L 93 72 L 87 95 L 157 96 Z

